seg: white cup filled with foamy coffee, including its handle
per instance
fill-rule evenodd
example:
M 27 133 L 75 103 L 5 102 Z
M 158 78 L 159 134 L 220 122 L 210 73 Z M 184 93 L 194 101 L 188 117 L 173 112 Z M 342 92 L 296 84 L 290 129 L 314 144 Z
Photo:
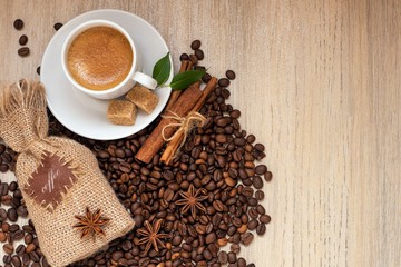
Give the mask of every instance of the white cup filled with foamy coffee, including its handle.
M 140 53 L 127 31 L 107 20 L 75 28 L 61 50 L 62 69 L 75 88 L 98 99 L 127 93 L 136 82 L 155 89 L 157 81 L 140 72 Z

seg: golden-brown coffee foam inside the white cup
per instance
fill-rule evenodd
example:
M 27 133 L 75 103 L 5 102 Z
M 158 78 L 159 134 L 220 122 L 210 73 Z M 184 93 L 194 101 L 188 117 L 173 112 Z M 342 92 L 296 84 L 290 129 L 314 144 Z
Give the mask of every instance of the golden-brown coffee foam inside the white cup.
M 119 85 L 134 61 L 127 38 L 109 27 L 85 30 L 72 41 L 67 55 L 72 78 L 91 90 L 107 90 Z

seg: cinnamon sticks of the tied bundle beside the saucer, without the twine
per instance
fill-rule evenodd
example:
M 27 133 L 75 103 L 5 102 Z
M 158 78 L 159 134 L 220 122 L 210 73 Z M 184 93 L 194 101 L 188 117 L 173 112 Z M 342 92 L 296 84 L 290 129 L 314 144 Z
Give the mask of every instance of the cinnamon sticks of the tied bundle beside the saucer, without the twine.
M 190 70 L 193 67 L 192 61 L 183 60 L 179 72 Z M 206 101 L 207 96 L 214 90 L 217 85 L 217 78 L 213 77 L 206 87 L 200 90 L 200 81 L 195 82 L 184 91 L 173 91 L 170 98 L 166 105 L 164 115 L 167 112 L 174 113 L 175 116 L 185 118 L 190 112 L 197 112 L 200 110 Z M 176 125 L 178 121 L 170 116 L 162 118 L 160 122 L 153 130 L 150 136 L 146 139 L 135 158 L 143 162 L 150 162 L 153 157 L 164 147 L 165 139 L 173 137 L 177 131 L 178 126 L 166 127 Z M 185 132 L 179 131 L 174 138 L 167 144 L 164 154 L 162 155 L 160 161 L 169 165 L 173 161 L 177 149 L 183 142 Z

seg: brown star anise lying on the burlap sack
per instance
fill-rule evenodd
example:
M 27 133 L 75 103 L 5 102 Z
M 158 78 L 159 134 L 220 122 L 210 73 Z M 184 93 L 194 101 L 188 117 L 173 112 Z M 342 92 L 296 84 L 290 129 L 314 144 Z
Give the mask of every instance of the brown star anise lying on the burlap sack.
M 106 235 L 104 227 L 110 220 L 109 218 L 101 216 L 101 210 L 97 209 L 95 212 L 90 212 L 90 209 L 86 208 L 85 216 L 75 216 L 78 219 L 78 222 L 72 227 L 81 230 L 81 238 L 86 236 L 91 236 L 95 239 L 96 234 Z

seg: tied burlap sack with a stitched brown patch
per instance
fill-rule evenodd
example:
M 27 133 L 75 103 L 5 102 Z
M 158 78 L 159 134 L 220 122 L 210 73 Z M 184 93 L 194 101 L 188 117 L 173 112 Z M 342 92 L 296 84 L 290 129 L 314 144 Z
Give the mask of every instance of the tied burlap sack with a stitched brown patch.
M 76 141 L 48 137 L 47 132 L 46 97 L 40 83 L 21 80 L 1 90 L 0 136 L 19 152 L 16 175 L 40 249 L 49 264 L 58 267 L 92 255 L 128 233 L 134 221 L 91 151 Z M 86 207 L 91 211 L 100 209 L 101 216 L 110 219 L 102 228 L 105 235 L 81 238 L 81 230 L 72 227 L 78 222 L 75 216 L 85 216 Z

